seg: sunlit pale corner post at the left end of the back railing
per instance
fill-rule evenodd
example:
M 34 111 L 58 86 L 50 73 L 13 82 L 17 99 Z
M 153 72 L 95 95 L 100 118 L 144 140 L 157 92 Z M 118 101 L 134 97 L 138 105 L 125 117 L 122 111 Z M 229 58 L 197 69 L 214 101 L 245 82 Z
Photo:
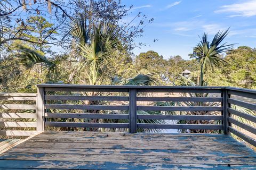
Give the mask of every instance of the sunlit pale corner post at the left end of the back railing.
M 36 98 L 36 114 L 37 114 L 37 127 L 36 130 L 38 132 L 43 132 L 44 131 L 44 88 L 43 87 L 38 87 L 37 88 L 37 98 Z

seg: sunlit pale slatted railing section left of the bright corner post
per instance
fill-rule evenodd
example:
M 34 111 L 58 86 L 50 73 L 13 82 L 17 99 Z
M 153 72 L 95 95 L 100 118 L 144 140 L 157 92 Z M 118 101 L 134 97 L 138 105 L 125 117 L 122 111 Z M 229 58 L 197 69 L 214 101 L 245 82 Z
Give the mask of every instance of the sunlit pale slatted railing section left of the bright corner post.
M 0 94 L 0 135 L 28 136 L 37 127 L 37 94 Z

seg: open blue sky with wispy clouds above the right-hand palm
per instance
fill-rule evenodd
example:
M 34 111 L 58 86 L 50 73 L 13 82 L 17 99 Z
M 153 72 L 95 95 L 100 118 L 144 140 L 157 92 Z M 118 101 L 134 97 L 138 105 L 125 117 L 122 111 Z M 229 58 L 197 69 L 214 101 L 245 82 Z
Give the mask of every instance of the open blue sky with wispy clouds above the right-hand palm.
M 123 0 L 122 4 L 133 5 L 132 12 L 125 20 L 132 19 L 139 11 L 155 21 L 145 27 L 144 36 L 137 43 L 146 47 L 135 48 L 138 55 L 155 50 L 164 58 L 188 54 L 199 42 L 203 32 L 209 38 L 218 30 L 230 27 L 226 41 L 237 46 L 256 47 L 256 0 Z M 156 43 L 154 39 L 158 39 Z M 236 46 L 236 47 L 237 47 Z

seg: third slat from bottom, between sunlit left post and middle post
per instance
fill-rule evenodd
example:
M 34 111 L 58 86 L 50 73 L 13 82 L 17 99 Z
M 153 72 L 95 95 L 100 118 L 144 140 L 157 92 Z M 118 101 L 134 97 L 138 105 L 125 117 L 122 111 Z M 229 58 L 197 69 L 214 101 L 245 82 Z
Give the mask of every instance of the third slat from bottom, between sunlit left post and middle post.
M 46 104 L 46 109 L 82 109 L 82 110 L 129 110 L 129 106 L 103 106 L 103 105 L 58 105 Z

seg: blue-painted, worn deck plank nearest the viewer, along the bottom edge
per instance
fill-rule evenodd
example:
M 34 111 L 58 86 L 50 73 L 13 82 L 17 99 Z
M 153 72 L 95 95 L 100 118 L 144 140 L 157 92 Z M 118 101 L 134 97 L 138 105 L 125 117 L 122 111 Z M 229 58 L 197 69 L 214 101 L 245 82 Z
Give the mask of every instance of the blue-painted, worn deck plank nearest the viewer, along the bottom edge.
M 115 162 L 60 162 L 38 160 L 0 160 L 0 168 L 6 169 L 255 169 L 251 165 L 219 164 L 157 164 L 157 163 L 115 163 Z

